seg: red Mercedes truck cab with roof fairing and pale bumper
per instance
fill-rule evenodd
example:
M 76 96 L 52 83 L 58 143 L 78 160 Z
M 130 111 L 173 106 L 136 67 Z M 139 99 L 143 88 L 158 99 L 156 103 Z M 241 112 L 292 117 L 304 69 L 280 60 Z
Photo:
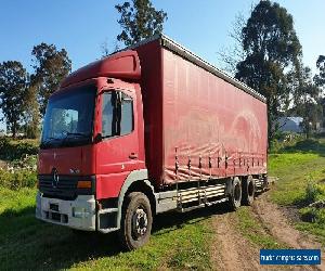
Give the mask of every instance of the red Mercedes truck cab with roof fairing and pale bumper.
M 126 51 L 73 73 L 51 95 L 38 160 L 37 218 L 77 230 L 120 229 L 120 194 L 139 177 L 147 179 L 139 80 L 138 55 Z M 133 231 L 141 237 L 148 228 L 141 218 L 148 215 L 138 207 Z

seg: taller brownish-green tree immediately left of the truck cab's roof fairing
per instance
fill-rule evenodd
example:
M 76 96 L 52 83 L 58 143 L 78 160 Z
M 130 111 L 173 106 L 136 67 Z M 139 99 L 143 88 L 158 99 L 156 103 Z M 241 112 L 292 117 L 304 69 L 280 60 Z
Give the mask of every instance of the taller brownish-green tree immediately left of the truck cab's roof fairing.
M 31 54 L 35 74 L 30 77 L 30 86 L 36 89 L 40 114 L 43 116 L 50 95 L 72 70 L 72 61 L 65 49 L 58 51 L 54 44 L 40 43 L 34 47 Z

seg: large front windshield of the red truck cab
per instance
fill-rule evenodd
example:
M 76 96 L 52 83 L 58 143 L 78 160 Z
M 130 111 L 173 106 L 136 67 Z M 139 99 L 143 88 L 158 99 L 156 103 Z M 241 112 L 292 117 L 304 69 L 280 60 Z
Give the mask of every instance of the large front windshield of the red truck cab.
M 90 143 L 95 87 L 66 90 L 50 98 L 43 122 L 41 149 Z

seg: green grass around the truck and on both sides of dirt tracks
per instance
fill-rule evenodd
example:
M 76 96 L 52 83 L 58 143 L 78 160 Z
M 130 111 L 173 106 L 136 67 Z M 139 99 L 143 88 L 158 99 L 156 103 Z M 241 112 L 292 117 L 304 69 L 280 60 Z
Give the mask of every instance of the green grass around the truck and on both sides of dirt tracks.
M 306 206 L 309 182 L 325 179 L 325 141 L 311 141 L 271 154 L 270 175 L 280 178 L 271 198 L 284 206 Z M 0 270 L 57 269 L 210 269 L 216 207 L 157 217 L 151 242 L 122 253 L 115 234 L 76 234 L 35 219 L 36 189 L 0 189 Z M 236 214 L 238 231 L 259 247 L 283 247 L 264 234 L 249 207 Z M 325 244 L 324 223 L 297 222 Z M 252 229 L 252 231 L 251 231 Z

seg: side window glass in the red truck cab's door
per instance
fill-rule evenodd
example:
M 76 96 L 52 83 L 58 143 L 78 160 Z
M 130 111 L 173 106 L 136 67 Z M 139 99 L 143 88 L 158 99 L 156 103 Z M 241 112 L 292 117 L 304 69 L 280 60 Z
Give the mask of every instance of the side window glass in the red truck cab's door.
M 102 137 L 125 136 L 133 131 L 133 100 L 121 91 L 103 94 Z

